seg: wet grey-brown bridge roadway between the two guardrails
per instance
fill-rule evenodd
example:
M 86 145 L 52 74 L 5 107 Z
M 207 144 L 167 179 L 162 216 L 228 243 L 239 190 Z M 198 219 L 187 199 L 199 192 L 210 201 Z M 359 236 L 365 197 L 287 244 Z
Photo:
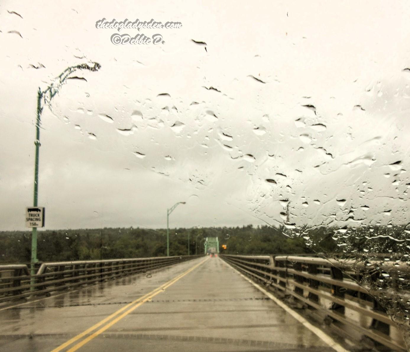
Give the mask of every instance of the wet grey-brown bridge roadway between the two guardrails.
M 334 351 L 219 257 L 2 309 L 0 350 Z

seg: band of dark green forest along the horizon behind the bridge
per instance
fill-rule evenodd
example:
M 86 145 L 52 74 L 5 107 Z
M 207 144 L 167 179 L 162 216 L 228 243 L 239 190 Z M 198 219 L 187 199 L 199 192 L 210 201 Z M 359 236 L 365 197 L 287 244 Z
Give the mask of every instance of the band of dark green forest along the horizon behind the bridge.
M 203 254 L 206 237 L 218 237 L 226 254 L 403 253 L 408 252 L 404 226 L 340 230 L 252 225 L 170 229 L 170 255 Z M 222 248 L 226 245 L 226 249 Z M 406 247 L 407 246 L 407 247 Z M 0 262 L 29 263 L 31 231 L 0 232 Z M 157 257 L 166 255 L 166 229 L 103 228 L 38 232 L 41 262 Z

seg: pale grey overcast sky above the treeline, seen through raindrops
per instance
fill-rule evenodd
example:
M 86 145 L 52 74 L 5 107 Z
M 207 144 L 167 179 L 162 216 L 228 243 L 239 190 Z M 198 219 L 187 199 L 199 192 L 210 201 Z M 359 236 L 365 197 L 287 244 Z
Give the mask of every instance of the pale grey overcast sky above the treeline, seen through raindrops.
M 285 199 L 296 225 L 408 223 L 409 15 L 407 1 L 3 1 L 0 229 L 24 230 L 32 205 L 38 87 L 90 61 L 100 71 L 73 74 L 87 81 L 41 116 L 46 229 L 164 228 L 178 201 L 171 227 L 278 226 Z

